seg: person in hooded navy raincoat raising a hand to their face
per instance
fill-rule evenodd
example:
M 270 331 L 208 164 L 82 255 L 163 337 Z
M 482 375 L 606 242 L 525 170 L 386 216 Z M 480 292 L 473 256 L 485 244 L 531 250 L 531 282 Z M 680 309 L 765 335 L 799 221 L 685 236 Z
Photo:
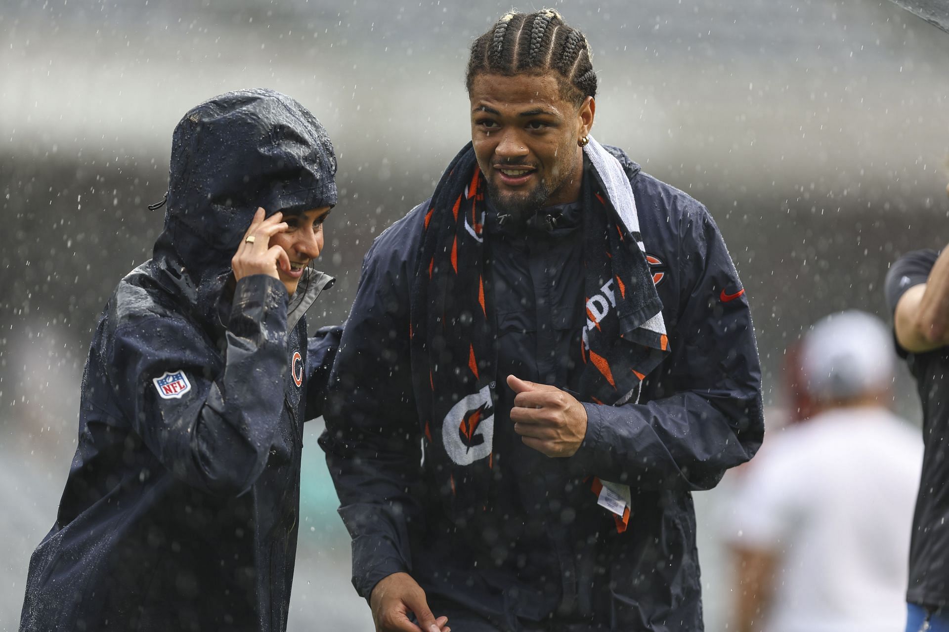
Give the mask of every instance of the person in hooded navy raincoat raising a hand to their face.
M 21 630 L 286 629 L 303 423 L 334 352 L 304 312 L 333 282 L 307 264 L 335 173 L 326 130 L 277 92 L 178 123 L 164 231 L 96 328 Z

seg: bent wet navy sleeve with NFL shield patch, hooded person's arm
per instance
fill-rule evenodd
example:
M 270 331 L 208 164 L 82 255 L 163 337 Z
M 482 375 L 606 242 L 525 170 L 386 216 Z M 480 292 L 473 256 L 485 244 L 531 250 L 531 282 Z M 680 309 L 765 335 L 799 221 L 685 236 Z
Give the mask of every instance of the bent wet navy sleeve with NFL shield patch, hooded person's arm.
M 110 381 L 162 465 L 203 491 L 239 495 L 263 472 L 279 427 L 286 339 L 286 288 L 253 275 L 234 289 L 219 375 L 195 325 L 148 316 L 113 334 Z

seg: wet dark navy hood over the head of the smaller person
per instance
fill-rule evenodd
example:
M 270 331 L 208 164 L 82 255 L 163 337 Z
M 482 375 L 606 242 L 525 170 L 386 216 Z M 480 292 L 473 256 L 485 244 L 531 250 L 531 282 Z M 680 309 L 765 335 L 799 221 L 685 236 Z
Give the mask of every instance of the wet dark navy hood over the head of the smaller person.
M 172 137 L 155 271 L 210 318 L 257 208 L 271 215 L 333 206 L 335 174 L 323 125 L 287 95 L 255 88 L 200 103 Z

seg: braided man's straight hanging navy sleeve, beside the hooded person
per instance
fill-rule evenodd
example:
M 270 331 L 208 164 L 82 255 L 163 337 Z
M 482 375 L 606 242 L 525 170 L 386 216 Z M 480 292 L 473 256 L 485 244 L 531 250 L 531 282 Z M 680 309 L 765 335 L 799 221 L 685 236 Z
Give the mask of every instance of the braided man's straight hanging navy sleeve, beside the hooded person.
M 382 237 L 366 254 L 326 400 L 320 445 L 352 537 L 353 586 L 365 599 L 411 571 L 408 530 L 420 520 L 420 431 L 409 356 L 410 264 Z M 401 251 L 412 245 L 400 244 Z

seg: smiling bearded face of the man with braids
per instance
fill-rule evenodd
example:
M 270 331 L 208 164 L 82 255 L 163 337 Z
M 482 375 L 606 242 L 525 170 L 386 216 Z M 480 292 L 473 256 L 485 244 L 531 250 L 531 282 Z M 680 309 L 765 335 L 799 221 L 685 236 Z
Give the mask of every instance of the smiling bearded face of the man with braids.
M 580 197 L 577 143 L 593 126 L 593 99 L 579 108 L 564 99 L 552 72 L 480 73 L 469 97 L 474 154 L 495 206 L 523 219 Z

